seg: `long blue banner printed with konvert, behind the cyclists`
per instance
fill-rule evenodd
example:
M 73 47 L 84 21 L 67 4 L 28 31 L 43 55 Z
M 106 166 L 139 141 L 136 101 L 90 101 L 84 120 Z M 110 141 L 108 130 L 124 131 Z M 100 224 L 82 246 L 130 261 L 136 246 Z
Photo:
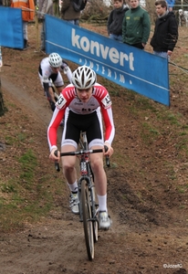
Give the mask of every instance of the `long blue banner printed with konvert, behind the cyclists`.
M 93 68 L 100 76 L 170 105 L 168 60 L 46 16 L 47 53 Z

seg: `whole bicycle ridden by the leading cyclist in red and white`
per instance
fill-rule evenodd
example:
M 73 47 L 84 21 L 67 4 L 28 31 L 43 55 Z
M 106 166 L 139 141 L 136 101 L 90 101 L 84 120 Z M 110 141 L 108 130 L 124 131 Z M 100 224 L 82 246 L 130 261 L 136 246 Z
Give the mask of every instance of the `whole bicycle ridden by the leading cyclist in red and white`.
M 89 260 L 94 258 L 94 243 L 98 241 L 98 212 L 99 205 L 95 195 L 94 174 L 89 163 L 89 154 L 103 153 L 102 149 L 89 150 L 86 132 L 81 132 L 79 140 L 80 150 L 77 152 L 60 153 L 60 156 L 79 156 L 80 178 L 78 180 L 78 208 L 79 221 L 83 222 L 85 242 Z M 108 147 L 105 146 L 105 151 Z M 57 155 L 57 151 L 55 152 Z M 109 156 L 106 164 L 110 166 Z M 56 162 L 56 169 L 60 171 Z

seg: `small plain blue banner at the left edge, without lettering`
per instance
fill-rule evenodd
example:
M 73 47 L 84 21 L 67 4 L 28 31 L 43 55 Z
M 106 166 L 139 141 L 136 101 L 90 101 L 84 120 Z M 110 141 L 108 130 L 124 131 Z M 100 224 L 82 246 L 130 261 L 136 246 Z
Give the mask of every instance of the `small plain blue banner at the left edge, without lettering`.
M 3 47 L 24 47 L 21 8 L 0 6 L 0 45 Z

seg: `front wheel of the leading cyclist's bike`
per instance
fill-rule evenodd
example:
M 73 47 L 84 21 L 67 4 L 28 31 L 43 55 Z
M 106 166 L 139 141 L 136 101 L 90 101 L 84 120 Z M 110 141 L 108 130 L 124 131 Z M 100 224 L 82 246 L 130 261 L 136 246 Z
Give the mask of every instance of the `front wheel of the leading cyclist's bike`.
M 89 260 L 92 260 L 94 258 L 93 222 L 89 200 L 89 188 L 85 180 L 81 182 L 81 202 L 86 248 Z

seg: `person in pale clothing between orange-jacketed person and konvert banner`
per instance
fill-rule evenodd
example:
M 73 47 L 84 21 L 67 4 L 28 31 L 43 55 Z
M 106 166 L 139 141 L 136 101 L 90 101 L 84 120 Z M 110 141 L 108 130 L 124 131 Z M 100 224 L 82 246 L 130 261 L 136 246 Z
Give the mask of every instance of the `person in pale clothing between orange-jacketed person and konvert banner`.
M 45 40 L 46 40 L 46 29 L 45 29 L 45 15 L 54 15 L 53 1 L 52 0 L 37 0 L 37 17 L 42 21 L 42 27 L 40 32 L 41 44 L 40 50 L 46 51 Z

